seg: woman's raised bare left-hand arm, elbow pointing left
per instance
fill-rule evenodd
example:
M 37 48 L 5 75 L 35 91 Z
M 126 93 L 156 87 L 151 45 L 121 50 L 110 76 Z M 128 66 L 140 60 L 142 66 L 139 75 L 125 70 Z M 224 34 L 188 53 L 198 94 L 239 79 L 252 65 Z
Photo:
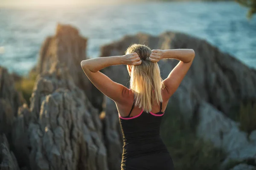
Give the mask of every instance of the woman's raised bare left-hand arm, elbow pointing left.
M 121 64 L 140 65 L 141 60 L 137 53 L 132 53 L 123 56 L 99 57 L 81 61 L 81 67 L 93 85 L 103 94 L 118 103 L 123 101 L 123 91 L 126 87 L 112 81 L 108 76 L 100 72 L 100 70 L 111 65 Z

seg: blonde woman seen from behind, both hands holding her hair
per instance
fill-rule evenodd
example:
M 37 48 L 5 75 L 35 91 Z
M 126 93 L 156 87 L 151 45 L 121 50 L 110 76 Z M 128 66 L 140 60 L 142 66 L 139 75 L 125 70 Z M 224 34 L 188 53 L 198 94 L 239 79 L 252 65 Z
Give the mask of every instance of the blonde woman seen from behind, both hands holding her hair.
M 179 87 L 194 57 L 192 49 L 151 51 L 145 45 L 134 44 L 123 56 L 81 62 L 90 81 L 116 103 L 124 139 L 122 170 L 174 170 L 172 158 L 160 138 L 160 122 L 169 98 Z M 180 60 L 163 81 L 157 64 L 160 59 Z M 130 89 L 99 72 L 120 64 L 127 65 Z

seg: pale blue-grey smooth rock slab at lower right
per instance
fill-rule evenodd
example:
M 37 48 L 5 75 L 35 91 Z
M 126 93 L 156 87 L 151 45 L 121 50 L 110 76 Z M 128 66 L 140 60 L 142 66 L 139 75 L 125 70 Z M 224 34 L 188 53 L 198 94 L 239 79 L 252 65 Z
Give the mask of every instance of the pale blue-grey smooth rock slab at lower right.
M 229 161 L 256 159 L 256 142 L 247 138 L 247 133 L 239 130 L 234 122 L 207 102 L 201 102 L 198 108 L 198 126 L 196 133 L 204 140 L 211 141 L 215 147 L 227 154 L 222 167 Z

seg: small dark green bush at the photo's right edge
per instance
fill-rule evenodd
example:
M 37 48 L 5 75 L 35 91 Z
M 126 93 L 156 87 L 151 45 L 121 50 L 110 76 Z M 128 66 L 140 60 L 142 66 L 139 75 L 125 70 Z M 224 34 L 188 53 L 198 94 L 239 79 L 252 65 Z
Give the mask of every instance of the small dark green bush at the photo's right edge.
M 256 130 L 256 99 L 241 102 L 236 121 L 240 122 L 240 129 L 248 134 Z

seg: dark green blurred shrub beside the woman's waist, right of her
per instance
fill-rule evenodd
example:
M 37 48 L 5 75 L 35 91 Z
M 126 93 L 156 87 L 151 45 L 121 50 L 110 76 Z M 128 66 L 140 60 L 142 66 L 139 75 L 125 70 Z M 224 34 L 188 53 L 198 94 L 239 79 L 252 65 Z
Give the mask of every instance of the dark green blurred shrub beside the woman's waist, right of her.
M 170 106 L 163 117 L 161 136 L 168 147 L 176 170 L 218 170 L 224 160 L 223 151 L 211 142 L 195 136 L 192 127 L 185 125 L 179 111 Z

